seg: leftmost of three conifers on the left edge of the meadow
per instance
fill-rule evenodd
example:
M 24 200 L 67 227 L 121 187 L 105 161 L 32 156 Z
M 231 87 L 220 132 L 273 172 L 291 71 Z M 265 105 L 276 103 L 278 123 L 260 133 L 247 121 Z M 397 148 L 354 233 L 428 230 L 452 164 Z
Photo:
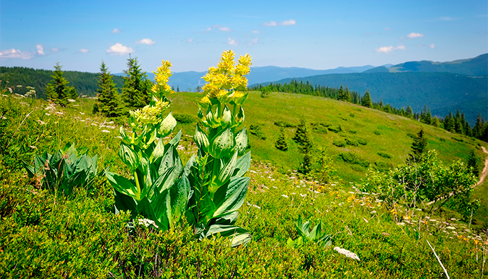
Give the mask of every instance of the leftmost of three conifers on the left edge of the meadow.
M 56 62 L 56 66 L 54 66 L 54 75 L 52 75 L 52 80 L 47 84 L 46 91 L 47 91 L 47 98 L 52 100 L 54 103 L 61 105 L 62 107 L 66 107 L 68 105 L 68 99 L 77 98 L 77 93 L 75 87 L 68 86 L 68 80 L 63 77 L 63 71 L 61 70 L 62 66 L 59 65 L 59 62 Z

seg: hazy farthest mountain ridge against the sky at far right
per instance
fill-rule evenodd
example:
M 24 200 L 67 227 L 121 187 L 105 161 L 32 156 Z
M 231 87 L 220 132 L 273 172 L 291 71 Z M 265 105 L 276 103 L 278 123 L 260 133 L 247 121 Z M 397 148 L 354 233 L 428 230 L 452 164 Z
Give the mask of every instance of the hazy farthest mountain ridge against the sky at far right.
M 366 73 L 377 72 L 386 72 L 386 70 L 383 67 L 376 67 L 366 71 Z M 488 54 L 449 62 L 409 61 L 390 67 L 388 72 L 445 72 L 472 76 L 488 75 Z

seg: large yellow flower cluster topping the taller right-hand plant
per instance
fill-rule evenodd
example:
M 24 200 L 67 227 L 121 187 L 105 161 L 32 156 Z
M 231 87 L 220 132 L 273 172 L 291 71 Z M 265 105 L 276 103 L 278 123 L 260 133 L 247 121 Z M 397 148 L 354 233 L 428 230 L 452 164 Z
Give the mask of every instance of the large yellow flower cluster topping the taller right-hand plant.
M 224 96 L 229 96 L 228 100 L 231 100 L 245 96 L 239 91 L 245 90 L 247 86 L 247 78 L 244 75 L 250 71 L 251 56 L 241 56 L 236 65 L 234 55 L 234 52 L 227 50 L 222 53 L 217 68 L 208 68 L 208 73 L 203 77 L 207 84 L 202 87 L 207 98 L 220 100 Z

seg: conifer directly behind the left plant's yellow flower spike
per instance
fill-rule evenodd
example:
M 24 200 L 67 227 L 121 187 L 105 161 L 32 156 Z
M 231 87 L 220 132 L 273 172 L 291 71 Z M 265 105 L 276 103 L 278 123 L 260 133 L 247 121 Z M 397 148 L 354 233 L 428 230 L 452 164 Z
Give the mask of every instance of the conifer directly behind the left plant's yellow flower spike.
M 146 72 L 141 70 L 137 58 L 129 56 L 127 66 L 128 69 L 123 71 L 122 96 L 125 106 L 133 110 L 148 105 L 152 82 L 147 79 Z

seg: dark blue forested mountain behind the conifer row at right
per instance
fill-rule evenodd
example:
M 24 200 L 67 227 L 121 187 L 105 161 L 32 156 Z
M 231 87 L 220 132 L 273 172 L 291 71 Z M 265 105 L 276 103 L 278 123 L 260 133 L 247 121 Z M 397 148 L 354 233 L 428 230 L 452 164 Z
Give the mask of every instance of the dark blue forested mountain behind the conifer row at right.
M 473 112 L 475 107 L 470 107 L 473 104 L 488 107 L 488 77 L 411 72 L 317 75 L 298 79 L 300 80 L 329 87 L 347 85 L 350 90 L 358 92 L 369 90 L 375 102 L 383 100 L 393 107 L 410 105 L 415 112 L 420 112 L 424 105 L 432 111 L 443 112 L 445 108 L 451 109 L 463 104 L 466 111 L 462 111 L 470 123 L 475 123 L 478 113 L 485 119 L 488 118 L 488 110 Z M 290 81 L 291 79 L 286 79 L 278 82 Z

